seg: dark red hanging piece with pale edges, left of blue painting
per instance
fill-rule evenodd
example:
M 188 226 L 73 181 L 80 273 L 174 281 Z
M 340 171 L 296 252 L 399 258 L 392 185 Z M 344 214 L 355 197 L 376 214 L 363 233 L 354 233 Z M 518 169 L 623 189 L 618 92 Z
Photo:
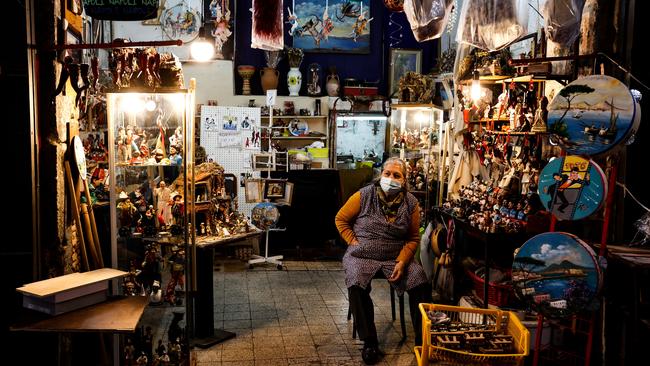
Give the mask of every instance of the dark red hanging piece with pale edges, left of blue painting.
M 253 0 L 251 11 L 251 48 L 281 51 L 284 48 L 282 0 Z

